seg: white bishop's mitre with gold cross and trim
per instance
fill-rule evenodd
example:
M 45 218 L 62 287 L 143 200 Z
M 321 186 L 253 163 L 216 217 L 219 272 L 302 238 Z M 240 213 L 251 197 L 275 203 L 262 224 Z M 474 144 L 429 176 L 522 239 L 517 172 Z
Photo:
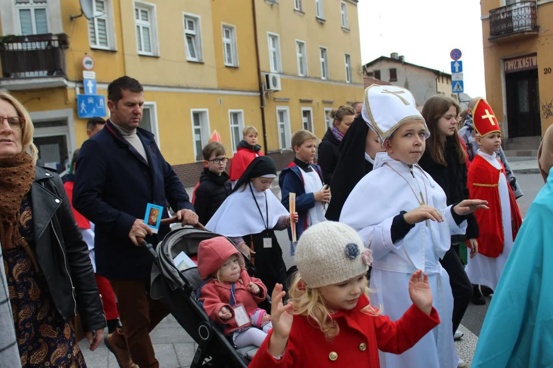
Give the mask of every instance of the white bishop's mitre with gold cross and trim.
M 430 136 L 426 122 L 416 108 L 413 94 L 405 88 L 372 84 L 365 89 L 361 114 L 381 142 L 410 120 L 422 120 L 426 138 Z

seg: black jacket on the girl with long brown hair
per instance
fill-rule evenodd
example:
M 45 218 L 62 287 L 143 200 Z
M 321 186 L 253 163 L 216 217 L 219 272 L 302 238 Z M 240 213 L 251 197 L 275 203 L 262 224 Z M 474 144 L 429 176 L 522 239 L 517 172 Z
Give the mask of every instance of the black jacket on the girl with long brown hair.
M 448 206 L 468 199 L 467 165 L 464 162 L 459 162 L 455 146 L 453 146 L 453 139 L 456 138 L 446 138 L 444 158 L 447 162 L 447 166 L 442 166 L 432 160 L 429 147 L 426 147 L 419 161 L 420 167 L 429 173 L 432 179 L 444 189 Z M 471 214 L 467 217 L 467 233 L 465 237 L 456 236 L 453 241 L 458 242 L 466 239 L 476 239 L 478 236 L 478 223 L 476 222 L 476 217 Z

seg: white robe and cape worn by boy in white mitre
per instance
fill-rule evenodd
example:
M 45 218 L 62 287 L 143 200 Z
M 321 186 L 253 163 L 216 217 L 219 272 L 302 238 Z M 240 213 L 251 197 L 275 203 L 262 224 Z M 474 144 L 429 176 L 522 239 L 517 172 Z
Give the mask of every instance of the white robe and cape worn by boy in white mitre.
M 394 244 L 391 234 L 393 218 L 400 211 L 419 207 L 420 193 L 426 205 L 441 211 L 444 222 L 428 220 L 417 223 Z M 401 355 L 380 352 L 380 366 L 457 367 L 451 322 L 453 295 L 449 276 L 439 259 L 450 249 L 451 235 L 464 234 L 467 223 L 456 224 L 440 185 L 418 165 L 409 168 L 385 152 L 377 153 L 372 172 L 365 175 L 348 196 L 340 222 L 352 226 L 365 246 L 372 249 L 371 289 L 375 292 L 371 304 L 381 307 L 383 314 L 392 320 L 399 319 L 412 305 L 409 297 L 411 274 L 421 269 L 429 275 L 434 298 L 432 305 L 439 313 L 441 323 Z

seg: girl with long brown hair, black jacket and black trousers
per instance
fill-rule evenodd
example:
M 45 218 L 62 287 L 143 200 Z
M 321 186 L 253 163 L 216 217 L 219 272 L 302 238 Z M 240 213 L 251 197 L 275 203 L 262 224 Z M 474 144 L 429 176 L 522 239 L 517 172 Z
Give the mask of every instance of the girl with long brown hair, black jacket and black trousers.
M 468 199 L 467 154 L 457 134 L 460 111 L 461 107 L 455 99 L 440 94 L 429 98 L 422 108 L 430 137 L 426 140 L 426 150 L 419 165 L 444 189 L 448 206 Z M 476 217 L 469 215 L 466 234 L 451 238 L 451 249 L 440 261 L 450 276 L 453 292 L 453 334 L 456 338 L 462 337 L 462 333 L 456 330 L 472 297 L 472 286 L 461 263 L 459 244 L 468 239 L 471 257 L 474 257 L 478 246 L 476 238 Z

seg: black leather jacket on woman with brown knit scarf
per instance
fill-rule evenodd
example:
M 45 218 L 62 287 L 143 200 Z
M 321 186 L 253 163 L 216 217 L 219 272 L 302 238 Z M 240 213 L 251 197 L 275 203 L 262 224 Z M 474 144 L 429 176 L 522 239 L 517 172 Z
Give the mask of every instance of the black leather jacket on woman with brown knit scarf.
M 88 257 L 88 247 L 75 223 L 69 198 L 54 171 L 35 167 L 30 189 L 34 253 L 50 294 L 65 321 L 79 310 L 85 331 L 106 326 L 102 301 Z

